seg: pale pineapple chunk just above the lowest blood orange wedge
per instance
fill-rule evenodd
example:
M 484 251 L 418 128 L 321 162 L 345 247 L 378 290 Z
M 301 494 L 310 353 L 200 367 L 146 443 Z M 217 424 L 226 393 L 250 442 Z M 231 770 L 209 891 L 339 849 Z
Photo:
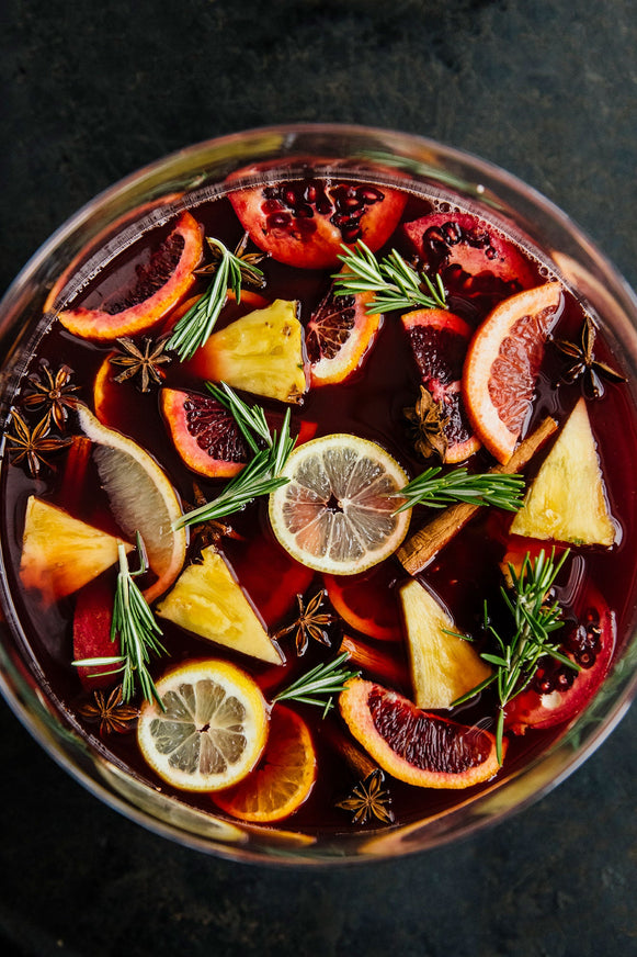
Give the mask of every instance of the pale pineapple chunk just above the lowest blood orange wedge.
M 411 680 L 418 708 L 451 708 L 491 674 L 475 648 L 457 634 L 436 599 L 416 579 L 400 588 Z

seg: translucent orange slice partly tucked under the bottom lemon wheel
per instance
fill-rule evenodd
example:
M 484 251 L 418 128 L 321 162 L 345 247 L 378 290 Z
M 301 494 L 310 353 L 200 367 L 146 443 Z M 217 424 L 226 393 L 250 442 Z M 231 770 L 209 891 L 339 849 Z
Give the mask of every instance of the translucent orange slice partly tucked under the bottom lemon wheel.
M 272 709 L 268 744 L 259 764 L 238 785 L 215 793 L 215 803 L 241 821 L 282 821 L 308 798 L 316 775 L 316 753 L 307 724 L 277 705 Z

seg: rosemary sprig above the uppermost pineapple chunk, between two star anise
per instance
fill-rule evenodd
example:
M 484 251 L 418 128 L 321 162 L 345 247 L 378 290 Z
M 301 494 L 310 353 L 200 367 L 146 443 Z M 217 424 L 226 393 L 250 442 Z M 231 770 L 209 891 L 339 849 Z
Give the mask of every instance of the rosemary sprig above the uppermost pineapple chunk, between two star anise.
M 191 359 L 211 336 L 229 289 L 235 293 L 237 302 L 240 302 L 242 282 L 262 284 L 263 272 L 255 262 L 263 257 L 247 255 L 246 241 L 244 236 L 237 249 L 230 252 L 220 239 L 207 237 L 214 261 L 200 272 L 214 272 L 214 279 L 201 299 L 179 319 L 167 346 L 178 353 L 182 362 Z

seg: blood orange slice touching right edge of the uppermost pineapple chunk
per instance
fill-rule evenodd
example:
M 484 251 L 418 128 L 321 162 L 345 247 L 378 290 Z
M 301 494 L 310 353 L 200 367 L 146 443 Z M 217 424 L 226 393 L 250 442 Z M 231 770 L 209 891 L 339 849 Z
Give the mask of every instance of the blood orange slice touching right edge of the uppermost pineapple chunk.
M 312 386 L 344 382 L 360 369 L 380 328 L 380 314 L 366 311 L 373 297 L 334 295 L 332 286 L 312 313 L 305 336 Z

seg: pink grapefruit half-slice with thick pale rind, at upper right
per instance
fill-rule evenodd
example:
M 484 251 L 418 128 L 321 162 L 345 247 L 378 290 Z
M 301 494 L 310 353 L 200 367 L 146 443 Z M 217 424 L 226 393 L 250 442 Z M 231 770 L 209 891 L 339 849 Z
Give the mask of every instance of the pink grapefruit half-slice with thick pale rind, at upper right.
M 531 408 L 544 344 L 561 304 L 548 282 L 501 302 L 469 344 L 463 371 L 467 414 L 494 458 L 511 458 Z

